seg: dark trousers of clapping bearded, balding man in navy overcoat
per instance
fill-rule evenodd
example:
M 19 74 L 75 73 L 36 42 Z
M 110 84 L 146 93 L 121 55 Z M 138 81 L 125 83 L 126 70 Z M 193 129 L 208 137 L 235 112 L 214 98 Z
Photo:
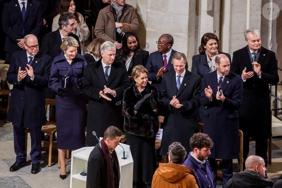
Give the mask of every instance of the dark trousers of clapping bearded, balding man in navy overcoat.
M 216 188 L 217 162 L 215 158 L 209 158 L 209 162 L 213 173 L 213 187 Z M 222 188 L 224 188 L 225 184 L 233 176 L 232 159 L 222 159 L 221 169 L 222 169 Z

